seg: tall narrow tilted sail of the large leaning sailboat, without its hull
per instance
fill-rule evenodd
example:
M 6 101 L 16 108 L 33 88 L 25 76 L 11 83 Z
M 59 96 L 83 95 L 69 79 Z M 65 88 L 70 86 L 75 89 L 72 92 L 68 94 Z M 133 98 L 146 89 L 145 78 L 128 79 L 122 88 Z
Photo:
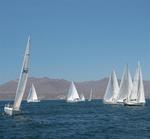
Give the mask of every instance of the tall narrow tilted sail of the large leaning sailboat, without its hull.
M 19 110 L 23 98 L 23 94 L 25 92 L 25 87 L 26 87 L 28 74 L 29 74 L 29 57 L 30 57 L 30 37 L 28 38 L 22 70 L 21 70 L 19 83 L 16 91 L 15 101 L 13 105 L 14 110 Z

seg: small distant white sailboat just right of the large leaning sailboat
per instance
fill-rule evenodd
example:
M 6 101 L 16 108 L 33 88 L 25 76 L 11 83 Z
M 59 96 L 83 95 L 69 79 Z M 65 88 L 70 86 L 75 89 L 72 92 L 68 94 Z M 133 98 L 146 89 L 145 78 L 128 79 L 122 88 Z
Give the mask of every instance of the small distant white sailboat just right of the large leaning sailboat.
M 32 87 L 29 91 L 29 94 L 28 94 L 28 97 L 27 97 L 27 102 L 28 103 L 30 103 L 30 102 L 40 102 L 40 100 L 37 97 L 37 93 L 36 93 L 36 90 L 35 90 L 35 87 L 34 87 L 33 84 L 32 84 Z

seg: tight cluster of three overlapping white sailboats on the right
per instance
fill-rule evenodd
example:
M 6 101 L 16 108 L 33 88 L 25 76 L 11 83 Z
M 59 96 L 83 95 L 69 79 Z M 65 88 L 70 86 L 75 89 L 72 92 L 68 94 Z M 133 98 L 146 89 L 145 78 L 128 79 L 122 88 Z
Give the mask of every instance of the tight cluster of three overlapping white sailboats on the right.
M 107 104 L 124 104 L 127 106 L 140 106 L 145 104 L 144 85 L 140 63 L 132 81 L 130 71 L 126 65 L 120 87 L 115 71 L 112 72 L 103 99 Z

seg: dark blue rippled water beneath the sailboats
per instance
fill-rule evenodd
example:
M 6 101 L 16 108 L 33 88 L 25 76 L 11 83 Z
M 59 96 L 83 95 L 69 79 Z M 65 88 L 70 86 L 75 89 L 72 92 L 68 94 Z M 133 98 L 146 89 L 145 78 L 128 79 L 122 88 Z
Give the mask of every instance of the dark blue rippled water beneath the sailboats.
M 150 101 L 143 107 L 42 101 L 22 103 L 20 115 L 6 116 L 0 102 L 0 139 L 149 139 Z

